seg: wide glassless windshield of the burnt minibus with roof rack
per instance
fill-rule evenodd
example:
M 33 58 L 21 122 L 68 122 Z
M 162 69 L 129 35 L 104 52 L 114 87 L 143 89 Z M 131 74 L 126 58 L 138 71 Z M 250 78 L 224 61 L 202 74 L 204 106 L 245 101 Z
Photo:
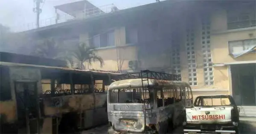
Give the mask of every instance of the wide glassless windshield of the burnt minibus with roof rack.
M 142 88 L 126 88 L 126 89 L 111 89 L 109 90 L 110 103 L 150 103 L 150 98 L 153 98 L 151 91 L 144 91 L 145 100 L 143 99 Z M 150 97 L 151 96 L 151 97 Z

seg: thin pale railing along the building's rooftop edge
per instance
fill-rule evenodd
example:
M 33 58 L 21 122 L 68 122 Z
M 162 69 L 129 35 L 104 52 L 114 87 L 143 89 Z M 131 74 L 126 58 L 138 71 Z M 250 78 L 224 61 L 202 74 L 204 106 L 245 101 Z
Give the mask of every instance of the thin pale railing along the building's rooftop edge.
M 110 5 L 95 7 L 91 9 L 86 9 L 83 11 L 76 11 L 71 14 L 66 14 L 66 13 L 57 14 L 55 17 L 50 17 L 44 20 L 40 20 L 39 27 L 50 26 L 57 23 L 64 23 L 72 20 L 84 20 L 100 14 L 111 13 L 116 10 L 118 10 L 116 6 L 114 6 L 113 4 L 110 4 Z M 32 30 L 36 28 L 37 28 L 36 22 L 33 22 L 33 23 L 26 23 L 20 26 L 13 27 L 12 31 L 21 32 L 21 31 L 27 31 L 27 30 Z

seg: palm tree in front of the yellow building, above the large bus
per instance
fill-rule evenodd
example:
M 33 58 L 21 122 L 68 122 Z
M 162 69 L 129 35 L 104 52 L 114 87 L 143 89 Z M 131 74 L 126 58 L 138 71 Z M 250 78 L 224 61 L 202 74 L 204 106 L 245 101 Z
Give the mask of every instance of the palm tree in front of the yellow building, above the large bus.
M 99 57 L 94 53 L 93 49 L 94 47 L 92 46 L 87 46 L 85 43 L 80 43 L 77 45 L 77 48 L 74 51 L 71 51 L 69 54 L 71 57 L 69 57 L 67 60 L 69 60 L 70 63 L 73 63 L 73 59 L 76 59 L 79 64 L 79 69 L 85 69 L 84 62 L 88 62 L 91 65 L 92 62 L 99 61 L 100 67 L 102 68 L 104 61 L 102 57 Z

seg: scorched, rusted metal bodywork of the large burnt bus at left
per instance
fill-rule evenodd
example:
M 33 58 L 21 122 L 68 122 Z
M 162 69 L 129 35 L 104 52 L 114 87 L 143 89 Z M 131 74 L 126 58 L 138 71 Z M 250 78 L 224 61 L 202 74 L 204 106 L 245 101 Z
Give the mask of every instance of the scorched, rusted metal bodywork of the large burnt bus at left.
M 49 66 L 38 66 L 38 65 L 27 65 L 27 64 L 20 64 L 20 63 L 6 63 L 6 62 L 0 62 L 1 66 L 7 66 L 10 68 L 9 76 L 11 83 L 11 91 L 12 91 L 12 100 L 8 101 L 0 101 L 0 114 L 1 114 L 1 123 L 6 124 L 15 124 L 18 121 L 17 118 L 17 100 L 15 98 L 15 83 L 13 81 L 20 81 L 24 83 L 36 83 L 36 87 L 38 90 L 35 91 L 35 94 L 38 95 L 36 97 L 36 111 L 38 112 L 36 114 L 36 122 L 34 124 L 32 122 L 27 123 L 29 125 L 26 125 L 27 132 L 29 133 L 29 128 L 32 127 L 35 123 L 37 123 L 37 133 L 52 133 L 52 118 L 61 117 L 64 114 L 74 112 L 81 115 L 86 115 L 84 117 L 84 127 L 92 127 L 93 125 L 97 125 L 97 123 L 91 122 L 91 120 L 99 119 L 101 122 L 104 123 L 107 122 L 107 113 L 106 113 L 106 100 L 107 95 L 106 92 L 88 92 L 88 93 L 79 93 L 79 94 L 61 94 L 61 96 L 56 96 L 55 93 L 55 80 L 58 80 L 58 78 L 54 78 L 51 80 L 51 92 L 49 96 L 47 94 L 42 94 L 42 86 L 41 86 L 41 71 L 55 71 L 55 73 L 65 73 L 65 74 L 76 74 L 76 75 L 87 75 L 90 76 L 90 84 L 92 89 L 94 89 L 94 75 L 97 76 L 97 78 L 100 78 L 100 76 L 105 77 L 116 77 L 117 73 L 108 73 L 108 72 L 97 72 L 97 71 L 84 71 L 79 69 L 70 69 L 70 68 L 60 68 L 60 67 L 49 67 Z M 53 75 L 51 73 L 44 74 L 45 75 Z M 56 75 L 58 76 L 58 75 Z M 68 75 L 67 75 L 68 76 Z M 65 76 L 65 77 L 67 77 Z M 87 77 L 85 76 L 85 77 Z M 59 77 L 62 77 L 59 75 Z M 48 77 L 47 77 L 48 78 Z M 52 78 L 52 77 L 51 77 Z M 75 80 L 73 77 L 70 78 L 70 88 L 71 91 L 74 91 L 74 84 L 73 80 Z M 68 79 L 68 77 L 67 77 Z M 79 84 L 79 83 L 77 83 Z M 82 88 L 82 86 L 81 86 Z M 20 89 L 18 89 L 20 90 Z M 51 91 L 49 90 L 49 91 Z M 58 94 L 57 94 L 58 95 Z M 30 94 L 29 94 L 30 96 Z M 40 109 L 39 109 L 39 99 L 40 99 Z M 91 111 L 94 109 L 94 111 Z M 97 114 L 97 115 L 96 115 Z M 27 113 L 26 115 L 30 115 L 30 113 Z M 28 116 L 26 116 L 28 117 Z M 29 122 L 29 119 L 26 119 L 27 122 Z M 80 121 L 81 120 L 77 120 Z M 2 124 L 1 124 L 2 125 Z M 36 126 L 35 125 L 35 126 Z M 58 127 L 57 127 L 58 128 Z M 32 131 L 31 131 L 32 132 Z

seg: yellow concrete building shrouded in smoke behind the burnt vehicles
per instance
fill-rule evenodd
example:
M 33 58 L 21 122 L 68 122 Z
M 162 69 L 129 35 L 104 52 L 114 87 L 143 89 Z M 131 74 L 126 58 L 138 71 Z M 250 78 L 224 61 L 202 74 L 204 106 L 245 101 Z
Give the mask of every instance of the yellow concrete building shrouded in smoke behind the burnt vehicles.
M 255 116 L 255 7 L 252 0 L 166 0 L 107 13 L 97 10 L 90 17 L 81 19 L 80 14 L 79 19 L 23 33 L 33 39 L 55 37 L 71 47 L 79 42 L 96 46 L 105 65 L 87 68 L 180 74 L 194 97 L 232 94 L 243 106 L 241 115 Z

